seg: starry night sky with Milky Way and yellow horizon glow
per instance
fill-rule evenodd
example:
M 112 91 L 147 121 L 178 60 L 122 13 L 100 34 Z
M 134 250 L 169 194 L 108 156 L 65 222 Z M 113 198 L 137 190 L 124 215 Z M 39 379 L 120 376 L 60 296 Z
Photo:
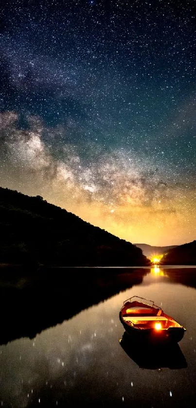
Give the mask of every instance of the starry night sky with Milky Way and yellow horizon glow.
M 0 3 L 2 187 L 175 245 L 195 180 L 195 1 Z

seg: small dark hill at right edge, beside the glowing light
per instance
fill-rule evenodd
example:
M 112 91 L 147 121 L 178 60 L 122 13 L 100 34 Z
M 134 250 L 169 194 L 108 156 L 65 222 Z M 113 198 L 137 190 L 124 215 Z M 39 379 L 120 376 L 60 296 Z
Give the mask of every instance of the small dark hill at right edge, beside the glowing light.
M 196 265 L 196 241 L 169 249 L 161 265 Z

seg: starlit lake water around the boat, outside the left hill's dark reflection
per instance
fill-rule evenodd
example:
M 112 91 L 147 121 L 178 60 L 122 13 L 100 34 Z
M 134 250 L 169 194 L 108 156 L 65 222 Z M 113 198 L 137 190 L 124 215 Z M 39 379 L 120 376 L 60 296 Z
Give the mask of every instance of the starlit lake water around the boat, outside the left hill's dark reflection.
M 1 345 L 1 406 L 195 407 L 196 267 L 134 268 L 129 281 L 125 291 L 35 338 Z M 154 367 L 143 351 L 138 361 L 119 342 L 119 311 L 134 295 L 153 300 L 187 329 L 177 355 L 169 361 L 152 355 Z

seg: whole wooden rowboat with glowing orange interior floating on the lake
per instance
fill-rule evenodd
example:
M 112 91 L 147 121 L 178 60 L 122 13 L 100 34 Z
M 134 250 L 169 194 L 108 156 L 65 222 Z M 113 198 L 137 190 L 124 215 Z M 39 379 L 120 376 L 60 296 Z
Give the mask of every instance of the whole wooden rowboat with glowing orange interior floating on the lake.
M 136 341 L 178 342 L 186 331 L 154 302 L 138 296 L 124 302 L 120 320 L 128 335 Z

